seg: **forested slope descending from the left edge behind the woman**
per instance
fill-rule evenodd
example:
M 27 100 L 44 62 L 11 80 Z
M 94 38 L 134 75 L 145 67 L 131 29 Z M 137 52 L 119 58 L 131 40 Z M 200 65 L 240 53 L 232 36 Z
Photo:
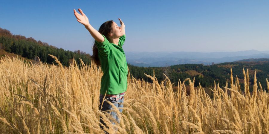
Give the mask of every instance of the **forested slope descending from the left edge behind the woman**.
M 86 64 L 91 63 L 90 54 L 80 52 L 80 50 L 72 52 L 62 48 L 58 49 L 48 43 L 36 41 L 33 38 L 26 38 L 22 35 L 13 35 L 7 29 L 0 28 L 0 50 L 7 53 L 14 53 L 21 55 L 27 59 L 35 59 L 36 56 L 42 62 L 53 63 L 54 59 L 48 54 L 56 56 L 64 66 L 69 66 L 71 59 L 75 59 L 77 64 L 80 63 L 79 58 Z

